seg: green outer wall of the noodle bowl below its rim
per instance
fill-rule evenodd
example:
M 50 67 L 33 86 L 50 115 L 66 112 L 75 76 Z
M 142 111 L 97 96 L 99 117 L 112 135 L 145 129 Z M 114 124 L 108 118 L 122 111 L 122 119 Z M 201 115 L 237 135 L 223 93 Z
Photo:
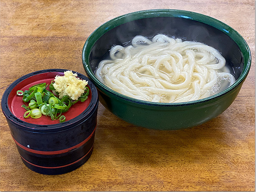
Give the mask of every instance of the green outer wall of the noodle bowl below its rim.
M 100 102 L 126 122 L 151 129 L 178 130 L 196 126 L 215 118 L 234 101 L 241 86 L 222 97 L 197 104 L 145 106 L 118 99 L 100 91 Z

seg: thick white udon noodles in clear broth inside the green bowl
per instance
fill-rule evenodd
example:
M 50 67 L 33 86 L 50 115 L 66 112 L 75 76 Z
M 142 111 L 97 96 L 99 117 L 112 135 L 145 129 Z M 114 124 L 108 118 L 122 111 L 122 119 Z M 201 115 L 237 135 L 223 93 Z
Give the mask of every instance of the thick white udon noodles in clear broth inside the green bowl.
M 169 103 L 206 98 L 235 82 L 218 50 L 163 34 L 151 40 L 136 36 L 130 46 L 113 46 L 95 75 L 120 94 Z

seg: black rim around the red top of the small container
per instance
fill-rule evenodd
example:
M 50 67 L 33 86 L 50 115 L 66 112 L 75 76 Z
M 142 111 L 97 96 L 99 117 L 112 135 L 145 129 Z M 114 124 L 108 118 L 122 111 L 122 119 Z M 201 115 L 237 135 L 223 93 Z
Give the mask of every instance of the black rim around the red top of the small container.
M 85 75 L 83 75 L 81 73 L 73 71 L 73 70 L 72 70 L 72 72 L 76 73 L 79 78 L 82 78 L 82 79 L 85 79 L 86 81 L 88 81 L 88 86 L 90 86 L 90 90 L 92 92 L 92 98 L 90 100 L 90 103 L 89 103 L 88 107 L 86 109 L 84 109 L 84 111 L 81 114 L 79 114 L 78 116 L 76 116 L 75 118 L 73 118 L 71 120 L 68 120 L 68 121 L 65 121 L 62 123 L 57 123 L 57 124 L 50 124 L 50 125 L 32 124 L 29 122 L 25 122 L 25 121 L 17 118 L 14 114 L 12 114 L 12 112 L 8 106 L 8 97 L 9 97 L 12 89 L 17 84 L 19 84 L 23 80 L 26 80 L 27 78 L 29 78 L 33 75 L 43 74 L 43 73 L 48 73 L 48 72 L 65 72 L 65 71 L 67 71 L 67 69 L 39 70 L 36 72 L 31 72 L 29 74 L 26 74 L 26 75 L 18 78 L 17 80 L 15 80 L 14 82 L 12 82 L 12 84 L 10 84 L 10 86 L 8 86 L 8 88 L 4 91 L 4 94 L 2 95 L 2 100 L 1 100 L 2 112 L 4 113 L 6 118 L 13 124 L 18 125 L 19 128 L 22 128 L 24 130 L 33 131 L 33 132 L 56 132 L 56 131 L 67 130 L 67 129 L 70 129 L 70 128 L 76 126 L 77 124 L 82 123 L 87 118 L 90 118 L 90 116 L 92 115 L 94 110 L 97 109 L 97 107 L 98 107 L 97 89 L 88 77 L 86 77 Z

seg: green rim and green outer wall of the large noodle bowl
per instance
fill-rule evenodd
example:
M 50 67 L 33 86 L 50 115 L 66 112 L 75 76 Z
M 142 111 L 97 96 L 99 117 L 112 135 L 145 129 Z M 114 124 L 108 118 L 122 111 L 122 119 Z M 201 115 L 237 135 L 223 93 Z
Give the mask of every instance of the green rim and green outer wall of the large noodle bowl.
M 182 103 L 155 103 L 137 100 L 119 94 L 102 84 L 89 64 L 91 49 L 97 40 L 109 30 L 126 22 L 153 17 L 175 17 L 208 24 L 228 35 L 242 52 L 244 64 L 236 82 L 228 89 L 208 98 Z M 202 14 L 182 10 L 145 10 L 114 18 L 97 28 L 86 40 L 82 62 L 88 77 L 99 92 L 100 102 L 110 112 L 137 126 L 158 130 L 178 130 L 200 125 L 226 110 L 238 95 L 251 65 L 251 54 L 245 40 L 230 26 Z

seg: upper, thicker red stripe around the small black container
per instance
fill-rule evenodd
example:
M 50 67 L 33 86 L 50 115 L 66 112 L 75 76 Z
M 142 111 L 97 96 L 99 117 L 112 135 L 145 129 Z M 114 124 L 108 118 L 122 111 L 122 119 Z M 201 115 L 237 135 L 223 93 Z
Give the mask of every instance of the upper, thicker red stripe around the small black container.
M 62 150 L 58 150 L 58 151 L 38 151 L 38 150 L 34 150 L 34 149 L 30 149 L 28 147 L 25 147 L 23 146 L 22 144 L 18 143 L 13 137 L 13 140 L 14 142 L 20 146 L 20 148 L 28 151 L 28 152 L 31 152 L 31 153 L 36 153 L 36 154 L 41 154 L 41 155 L 56 155 L 56 154 L 62 154 L 62 153 L 66 153 L 66 152 L 69 152 L 70 150 L 74 149 L 74 148 L 78 148 L 80 146 L 82 146 L 83 144 L 85 144 L 91 137 L 92 135 L 94 134 L 96 130 L 96 126 L 94 128 L 94 130 L 92 131 L 92 133 L 90 134 L 90 136 L 88 136 L 88 138 L 86 138 L 86 140 L 82 141 L 81 143 L 78 143 L 77 145 L 74 145 L 70 148 L 66 148 L 66 149 L 62 149 Z

